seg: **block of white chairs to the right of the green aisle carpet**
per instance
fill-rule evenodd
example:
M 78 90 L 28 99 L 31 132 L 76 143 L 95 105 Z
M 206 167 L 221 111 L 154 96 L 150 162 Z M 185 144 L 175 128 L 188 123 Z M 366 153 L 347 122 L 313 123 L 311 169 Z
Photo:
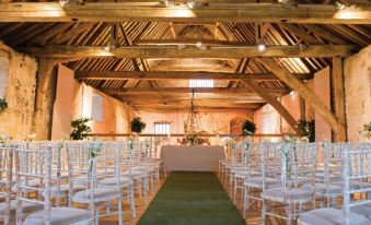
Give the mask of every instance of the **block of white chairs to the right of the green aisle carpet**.
M 287 224 L 371 224 L 371 144 L 230 143 L 220 178 L 251 206 Z M 254 204 L 256 203 L 256 204 Z M 298 220 L 299 218 L 299 220 Z

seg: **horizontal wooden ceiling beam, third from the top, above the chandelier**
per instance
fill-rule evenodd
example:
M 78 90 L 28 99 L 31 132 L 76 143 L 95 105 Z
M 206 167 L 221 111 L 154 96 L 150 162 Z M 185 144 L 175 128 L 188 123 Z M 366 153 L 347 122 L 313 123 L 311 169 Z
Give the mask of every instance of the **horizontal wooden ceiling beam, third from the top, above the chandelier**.
M 188 72 L 188 71 L 76 71 L 76 78 L 82 80 L 252 80 L 277 81 L 274 73 L 221 73 L 221 72 Z M 293 73 L 301 80 L 313 78 L 311 73 Z

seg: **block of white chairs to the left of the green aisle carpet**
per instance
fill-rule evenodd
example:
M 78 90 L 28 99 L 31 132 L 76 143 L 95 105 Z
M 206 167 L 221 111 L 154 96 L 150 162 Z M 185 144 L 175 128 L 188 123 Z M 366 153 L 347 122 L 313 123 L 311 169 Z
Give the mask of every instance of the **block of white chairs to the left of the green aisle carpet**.
M 98 152 L 95 152 L 98 151 Z M 135 192 L 147 203 L 161 161 L 152 142 L 67 141 L 0 145 L 0 220 L 9 224 L 98 224 Z M 150 182 L 150 186 L 148 185 Z

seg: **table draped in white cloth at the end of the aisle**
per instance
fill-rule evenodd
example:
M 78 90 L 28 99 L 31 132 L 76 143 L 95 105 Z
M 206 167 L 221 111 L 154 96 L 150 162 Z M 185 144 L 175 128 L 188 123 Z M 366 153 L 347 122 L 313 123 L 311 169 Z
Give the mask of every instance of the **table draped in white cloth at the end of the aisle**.
M 163 145 L 161 159 L 169 171 L 217 171 L 224 149 L 217 145 Z

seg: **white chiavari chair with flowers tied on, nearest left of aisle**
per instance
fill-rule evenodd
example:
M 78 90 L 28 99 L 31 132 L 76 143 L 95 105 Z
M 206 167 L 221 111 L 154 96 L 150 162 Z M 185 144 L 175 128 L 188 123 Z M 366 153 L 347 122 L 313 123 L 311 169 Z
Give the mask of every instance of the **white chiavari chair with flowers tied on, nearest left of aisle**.
M 105 145 L 98 141 L 67 143 L 66 147 L 70 190 L 73 190 L 74 185 L 84 186 L 82 191 L 73 194 L 70 191 L 70 202 L 89 205 L 90 212 L 94 214 L 95 224 L 98 224 L 100 217 L 115 214 L 118 215 L 118 223 L 123 224 L 121 191 L 119 186 L 112 186 L 109 188 L 98 187 L 98 179 L 113 175 L 115 170 L 118 171 L 119 169 L 118 161 L 113 159 L 117 153 L 114 153 L 115 156 L 107 156 L 115 152 L 115 150 L 106 150 Z M 100 153 L 93 153 L 93 150 L 96 149 L 101 149 Z M 119 173 L 116 173 L 116 175 L 114 176 L 116 183 L 120 183 Z M 117 211 L 111 212 L 111 203 L 114 201 L 117 202 Z M 102 205 L 106 206 L 105 213 L 100 211 Z

